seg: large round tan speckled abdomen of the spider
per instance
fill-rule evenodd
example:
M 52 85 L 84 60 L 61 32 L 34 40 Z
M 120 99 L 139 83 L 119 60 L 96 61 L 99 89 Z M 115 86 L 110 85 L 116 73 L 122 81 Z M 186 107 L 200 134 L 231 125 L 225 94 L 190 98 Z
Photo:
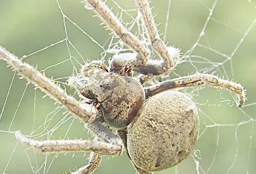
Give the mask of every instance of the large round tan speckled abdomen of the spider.
M 145 171 L 161 171 L 179 164 L 198 140 L 198 111 L 186 94 L 165 91 L 149 98 L 127 127 L 127 150 Z

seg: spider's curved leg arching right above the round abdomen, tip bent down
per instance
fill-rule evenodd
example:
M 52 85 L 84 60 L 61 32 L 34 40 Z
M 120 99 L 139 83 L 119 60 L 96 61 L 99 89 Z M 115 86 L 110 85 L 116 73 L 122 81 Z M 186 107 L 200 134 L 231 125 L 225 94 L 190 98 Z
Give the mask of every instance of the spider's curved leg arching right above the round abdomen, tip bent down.
M 155 94 L 161 93 L 162 91 L 171 90 L 173 88 L 200 86 L 220 87 L 236 94 L 239 98 L 239 107 L 241 107 L 245 102 L 245 90 L 241 84 L 220 79 L 212 74 L 193 74 L 190 76 L 179 77 L 177 79 L 154 84 L 153 86 L 144 88 L 144 91 L 146 98 L 148 98 Z

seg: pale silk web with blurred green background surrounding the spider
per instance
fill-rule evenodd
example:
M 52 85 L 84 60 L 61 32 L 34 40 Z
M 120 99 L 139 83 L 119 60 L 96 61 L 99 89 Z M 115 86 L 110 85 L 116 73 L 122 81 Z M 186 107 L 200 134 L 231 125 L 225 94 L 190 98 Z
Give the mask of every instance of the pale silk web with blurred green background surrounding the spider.
M 84 62 L 129 51 L 99 26 L 94 12 L 79 1 L 3 1 L 1 45 L 74 94 L 66 85 Z M 132 1 L 106 3 L 142 41 L 145 31 Z M 174 168 L 157 173 L 256 173 L 255 1 L 151 2 L 162 38 L 184 56 L 168 79 L 192 73 L 215 73 L 247 89 L 248 100 L 237 108 L 236 97 L 215 88 L 184 89 L 200 113 L 200 134 L 194 153 Z M 0 172 L 63 173 L 87 164 L 89 153 L 40 154 L 18 143 L 20 129 L 36 140 L 91 139 L 82 123 L 34 90 L 0 61 Z M 126 155 L 103 158 L 95 173 L 135 173 Z

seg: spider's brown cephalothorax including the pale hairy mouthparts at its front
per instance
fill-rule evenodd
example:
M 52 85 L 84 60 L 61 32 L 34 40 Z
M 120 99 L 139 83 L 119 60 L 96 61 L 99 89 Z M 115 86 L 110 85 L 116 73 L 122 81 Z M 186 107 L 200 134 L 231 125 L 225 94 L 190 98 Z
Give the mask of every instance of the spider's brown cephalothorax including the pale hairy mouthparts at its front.
M 70 84 L 84 97 L 99 102 L 103 118 L 109 126 L 125 128 L 143 105 L 143 88 L 136 79 L 108 72 L 102 65 L 101 61 L 84 65 L 82 75 L 71 77 Z

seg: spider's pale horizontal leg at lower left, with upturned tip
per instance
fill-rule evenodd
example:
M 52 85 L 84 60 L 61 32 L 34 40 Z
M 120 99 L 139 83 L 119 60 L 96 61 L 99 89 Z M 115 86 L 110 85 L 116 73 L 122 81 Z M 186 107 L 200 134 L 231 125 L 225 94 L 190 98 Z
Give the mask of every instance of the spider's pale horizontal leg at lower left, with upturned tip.
M 20 131 L 15 132 L 18 141 L 33 147 L 43 153 L 51 152 L 84 152 L 92 151 L 103 155 L 120 155 L 122 145 L 116 143 L 105 143 L 101 141 L 87 140 L 44 140 L 37 141 L 28 139 Z

